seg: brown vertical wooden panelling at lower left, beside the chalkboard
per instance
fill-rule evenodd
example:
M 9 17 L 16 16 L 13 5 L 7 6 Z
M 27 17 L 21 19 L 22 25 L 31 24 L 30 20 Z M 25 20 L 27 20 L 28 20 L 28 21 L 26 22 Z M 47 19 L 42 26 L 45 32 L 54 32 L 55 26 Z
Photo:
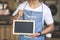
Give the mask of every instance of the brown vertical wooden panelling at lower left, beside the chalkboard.
M 0 25 L 0 40 L 18 40 L 12 33 L 12 25 Z

